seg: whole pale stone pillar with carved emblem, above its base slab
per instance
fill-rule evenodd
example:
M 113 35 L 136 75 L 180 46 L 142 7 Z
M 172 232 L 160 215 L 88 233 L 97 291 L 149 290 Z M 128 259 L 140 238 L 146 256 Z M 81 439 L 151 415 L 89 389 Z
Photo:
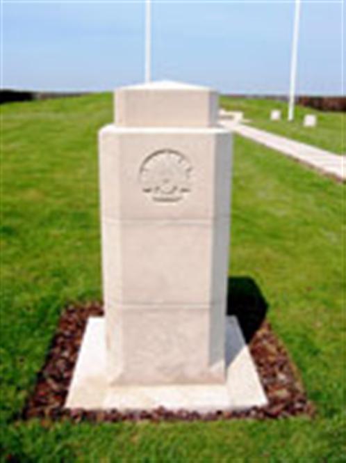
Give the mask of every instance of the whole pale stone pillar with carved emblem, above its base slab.
M 217 93 L 120 88 L 99 132 L 108 379 L 226 381 L 231 133 Z

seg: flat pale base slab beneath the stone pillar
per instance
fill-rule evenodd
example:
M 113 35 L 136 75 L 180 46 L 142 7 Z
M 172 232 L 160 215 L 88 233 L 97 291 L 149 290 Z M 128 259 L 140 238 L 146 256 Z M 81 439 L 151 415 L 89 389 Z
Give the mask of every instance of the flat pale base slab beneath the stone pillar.
M 267 398 L 236 317 L 226 322 L 225 384 L 110 386 L 106 376 L 104 317 L 90 317 L 65 407 L 69 409 L 150 410 L 164 407 L 200 413 L 247 409 Z

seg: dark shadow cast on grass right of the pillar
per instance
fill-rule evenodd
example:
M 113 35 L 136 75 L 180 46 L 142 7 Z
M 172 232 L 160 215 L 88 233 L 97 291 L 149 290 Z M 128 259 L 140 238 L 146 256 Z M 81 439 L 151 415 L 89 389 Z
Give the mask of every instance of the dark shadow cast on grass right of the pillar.
M 254 278 L 231 276 L 228 280 L 226 314 L 236 315 L 247 343 L 261 326 L 268 304 Z

